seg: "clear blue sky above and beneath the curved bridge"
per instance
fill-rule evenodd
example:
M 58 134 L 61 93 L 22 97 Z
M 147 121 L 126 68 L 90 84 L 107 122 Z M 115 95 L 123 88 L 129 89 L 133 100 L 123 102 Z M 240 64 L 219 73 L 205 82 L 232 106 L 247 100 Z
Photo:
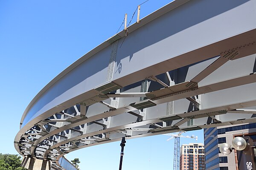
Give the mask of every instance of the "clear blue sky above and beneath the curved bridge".
M 130 21 L 144 1 L 0 0 L 0 153 L 17 153 L 13 141 L 33 97 L 79 57 L 116 34 L 125 13 Z M 170 1 L 149 0 L 141 6 L 141 17 Z M 204 141 L 202 130 L 185 135 L 192 134 Z M 166 139 L 158 135 L 127 140 L 122 169 L 172 169 L 174 141 Z M 66 157 L 79 158 L 82 170 L 118 169 L 119 144 L 88 147 Z

